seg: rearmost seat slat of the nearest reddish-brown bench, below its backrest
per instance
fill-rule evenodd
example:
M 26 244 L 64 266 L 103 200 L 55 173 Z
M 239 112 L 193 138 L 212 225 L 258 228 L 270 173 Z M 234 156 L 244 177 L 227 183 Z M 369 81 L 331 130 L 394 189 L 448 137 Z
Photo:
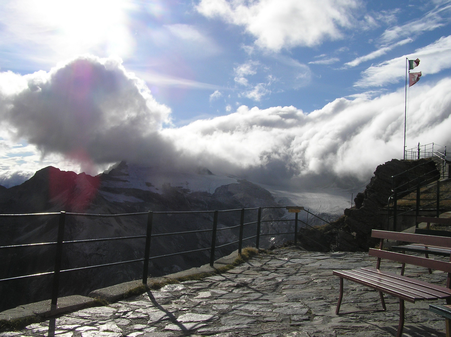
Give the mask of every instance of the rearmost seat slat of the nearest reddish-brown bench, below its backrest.
M 414 289 L 413 293 L 417 293 L 425 298 L 428 298 L 428 296 L 422 294 L 428 294 L 430 296 L 433 296 L 432 298 L 444 298 L 451 295 L 451 291 L 449 289 L 443 291 L 437 289 L 437 287 L 434 284 L 430 284 L 427 282 L 425 282 L 425 284 L 420 284 L 419 282 L 415 282 L 417 280 L 413 278 L 409 278 L 409 280 L 404 280 L 397 277 L 400 275 L 392 273 L 381 273 L 380 271 L 374 272 L 364 268 L 361 268 L 359 272 L 367 274 L 373 278 L 381 278 L 384 281 L 389 282 L 390 284 L 393 283 L 393 287 L 400 287 L 400 289 L 403 289 L 405 291 L 411 291 L 412 289 Z M 412 282 L 412 280 L 414 282 Z

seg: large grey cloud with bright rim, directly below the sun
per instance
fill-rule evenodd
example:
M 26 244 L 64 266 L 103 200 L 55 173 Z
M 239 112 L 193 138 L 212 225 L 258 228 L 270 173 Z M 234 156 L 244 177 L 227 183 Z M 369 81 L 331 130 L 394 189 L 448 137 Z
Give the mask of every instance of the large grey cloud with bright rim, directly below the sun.
M 8 126 L 8 137 L 36 146 L 44 157 L 62 155 L 85 167 L 176 157 L 158 133 L 170 122 L 170 109 L 121 62 L 82 55 L 48 73 L 16 75 L 27 86 L 0 92 L 0 122 Z M 2 73 L 0 82 L 11 77 Z

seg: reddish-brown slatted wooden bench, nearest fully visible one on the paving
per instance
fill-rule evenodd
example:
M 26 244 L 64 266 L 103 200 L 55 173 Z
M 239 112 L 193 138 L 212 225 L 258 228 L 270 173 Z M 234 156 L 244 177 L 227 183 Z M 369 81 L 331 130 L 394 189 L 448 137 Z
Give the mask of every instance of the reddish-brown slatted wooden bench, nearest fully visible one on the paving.
M 420 235 L 403 232 L 372 231 L 372 237 L 380 239 L 379 249 L 370 249 L 368 254 L 377 257 L 376 268 L 360 268 L 354 270 L 334 270 L 333 274 L 340 278 L 340 296 L 336 307 L 336 314 L 340 311 L 343 298 L 343 279 L 347 279 L 379 291 L 382 309 L 387 310 L 383 294 L 399 298 L 399 325 L 396 337 L 402 335 L 404 328 L 404 301 L 415 303 L 415 301 L 446 300 L 451 304 L 451 262 L 433 260 L 424 257 L 396 253 L 382 250 L 383 240 L 397 240 L 423 245 L 437 245 L 451 249 L 451 237 L 436 237 L 431 235 Z M 396 273 L 387 273 L 380 270 L 381 260 L 387 259 L 401 264 L 414 264 L 421 267 L 441 270 L 448 273 L 446 287 L 437 286 L 415 278 L 405 277 Z

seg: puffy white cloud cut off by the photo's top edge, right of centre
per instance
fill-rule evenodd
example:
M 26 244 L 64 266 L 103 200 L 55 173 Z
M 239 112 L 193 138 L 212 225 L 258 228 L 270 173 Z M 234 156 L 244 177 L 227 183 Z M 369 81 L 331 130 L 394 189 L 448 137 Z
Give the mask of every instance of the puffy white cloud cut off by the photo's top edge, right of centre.
M 219 17 L 244 26 L 256 45 L 274 51 L 315 46 L 342 38 L 352 26 L 358 0 L 201 0 L 196 9 L 207 18 Z

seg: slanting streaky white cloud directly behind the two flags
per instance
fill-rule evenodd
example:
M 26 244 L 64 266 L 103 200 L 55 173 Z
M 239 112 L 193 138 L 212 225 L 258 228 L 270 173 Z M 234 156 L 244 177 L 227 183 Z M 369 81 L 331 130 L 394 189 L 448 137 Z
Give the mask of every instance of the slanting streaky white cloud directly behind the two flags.
M 428 46 L 419 48 L 414 53 L 397 57 L 362 72 L 362 78 L 356 87 L 381 87 L 387 83 L 397 83 L 405 77 L 405 58 L 421 60 L 419 71 L 423 76 L 451 68 L 451 35 L 443 36 Z

